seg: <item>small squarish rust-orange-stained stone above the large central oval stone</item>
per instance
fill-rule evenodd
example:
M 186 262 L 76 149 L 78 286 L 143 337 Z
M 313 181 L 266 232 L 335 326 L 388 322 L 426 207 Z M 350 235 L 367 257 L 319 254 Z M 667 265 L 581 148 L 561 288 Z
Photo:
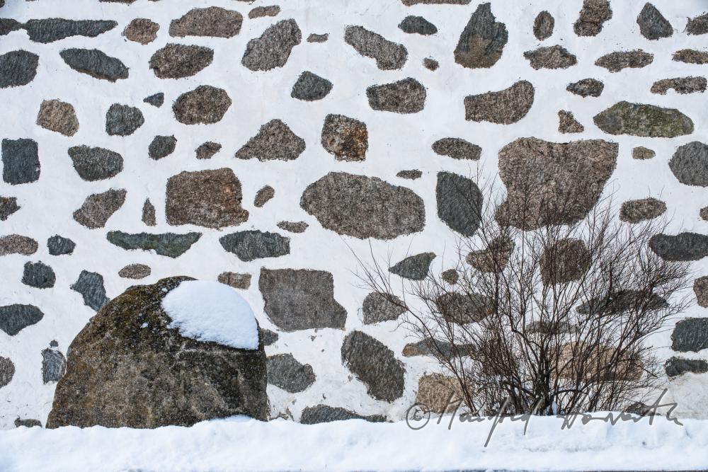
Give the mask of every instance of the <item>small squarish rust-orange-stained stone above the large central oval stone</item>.
M 363 161 L 369 149 L 366 123 L 344 115 L 327 115 L 321 143 L 338 161 Z

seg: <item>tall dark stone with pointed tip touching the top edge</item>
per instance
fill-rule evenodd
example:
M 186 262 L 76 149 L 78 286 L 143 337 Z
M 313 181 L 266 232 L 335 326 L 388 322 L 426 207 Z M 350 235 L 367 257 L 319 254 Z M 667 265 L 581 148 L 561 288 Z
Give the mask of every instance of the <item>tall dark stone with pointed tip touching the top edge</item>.
M 455 47 L 455 62 L 470 69 L 492 67 L 501 58 L 509 33 L 491 13 L 491 3 L 481 4 L 469 18 Z

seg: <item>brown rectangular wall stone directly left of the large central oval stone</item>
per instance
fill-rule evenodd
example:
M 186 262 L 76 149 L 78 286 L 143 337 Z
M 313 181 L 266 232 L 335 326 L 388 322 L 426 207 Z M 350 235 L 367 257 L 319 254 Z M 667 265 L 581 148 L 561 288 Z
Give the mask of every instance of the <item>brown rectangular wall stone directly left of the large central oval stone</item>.
M 184 171 L 167 180 L 165 215 L 173 226 L 235 226 L 249 219 L 241 200 L 241 182 L 230 168 Z

